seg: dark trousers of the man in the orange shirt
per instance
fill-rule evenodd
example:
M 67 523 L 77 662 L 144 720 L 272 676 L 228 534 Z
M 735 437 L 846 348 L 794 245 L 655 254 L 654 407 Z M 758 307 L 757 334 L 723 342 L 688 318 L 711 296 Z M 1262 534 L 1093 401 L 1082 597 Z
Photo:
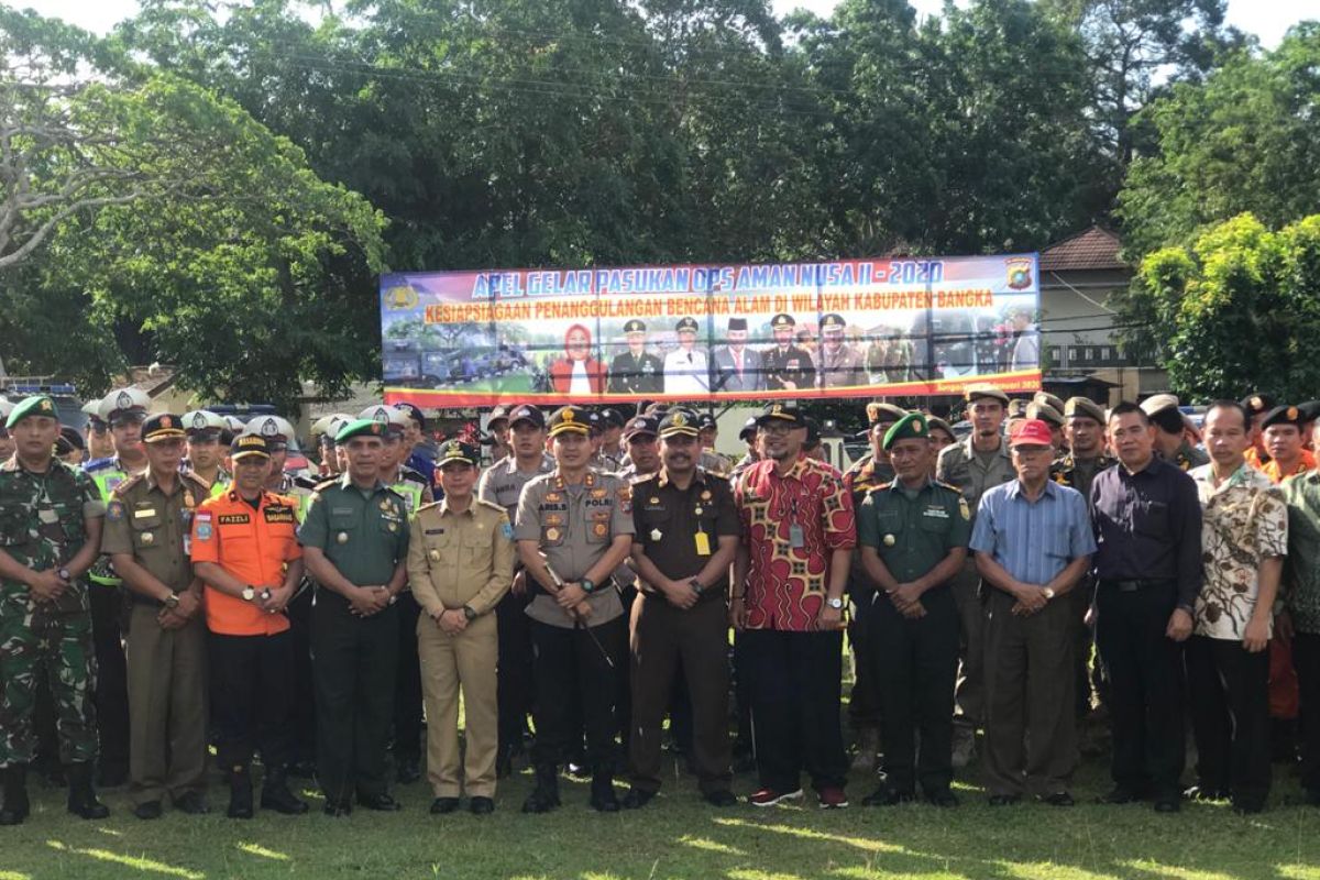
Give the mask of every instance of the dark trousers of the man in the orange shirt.
M 293 636 L 209 633 L 215 756 L 224 772 L 261 763 L 284 770 L 289 759 L 293 697 Z

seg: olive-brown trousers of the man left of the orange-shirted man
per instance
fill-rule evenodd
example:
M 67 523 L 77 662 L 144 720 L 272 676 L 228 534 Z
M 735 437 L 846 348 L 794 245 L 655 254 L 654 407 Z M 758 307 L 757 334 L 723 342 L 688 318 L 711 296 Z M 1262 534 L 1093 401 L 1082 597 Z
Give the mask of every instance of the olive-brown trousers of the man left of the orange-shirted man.
M 133 604 L 128 628 L 129 796 L 178 800 L 206 788 L 206 621 L 161 629 Z

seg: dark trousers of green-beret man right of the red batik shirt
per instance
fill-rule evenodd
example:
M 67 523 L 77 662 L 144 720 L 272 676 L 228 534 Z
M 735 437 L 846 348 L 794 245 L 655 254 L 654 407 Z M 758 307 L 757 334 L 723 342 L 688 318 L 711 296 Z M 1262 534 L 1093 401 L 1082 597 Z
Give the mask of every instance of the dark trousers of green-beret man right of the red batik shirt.
M 921 595 L 925 616 L 908 620 L 888 596 L 866 610 L 880 698 L 884 781 L 911 794 L 916 782 L 929 794 L 953 781 L 953 687 L 961 644 L 957 602 L 949 586 Z M 917 753 L 916 734 L 921 734 Z

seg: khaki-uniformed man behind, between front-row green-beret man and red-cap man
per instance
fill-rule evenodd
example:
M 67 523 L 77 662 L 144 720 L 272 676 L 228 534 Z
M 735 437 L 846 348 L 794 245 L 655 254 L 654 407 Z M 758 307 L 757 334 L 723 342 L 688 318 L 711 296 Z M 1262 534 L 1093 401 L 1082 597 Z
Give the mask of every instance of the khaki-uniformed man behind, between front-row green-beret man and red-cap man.
M 940 453 L 935 479 L 962 492 L 962 500 L 975 509 L 986 489 L 1018 479 L 1008 458 L 1008 445 L 999 430 L 1008 406 L 1008 396 L 994 385 L 970 385 L 965 393 L 972 434 L 965 441 Z M 962 629 L 962 670 L 956 695 L 957 715 L 953 730 L 953 767 L 966 767 L 975 745 L 975 730 L 985 720 L 985 607 L 981 604 L 981 575 L 972 554 L 962 571 L 953 579 Z

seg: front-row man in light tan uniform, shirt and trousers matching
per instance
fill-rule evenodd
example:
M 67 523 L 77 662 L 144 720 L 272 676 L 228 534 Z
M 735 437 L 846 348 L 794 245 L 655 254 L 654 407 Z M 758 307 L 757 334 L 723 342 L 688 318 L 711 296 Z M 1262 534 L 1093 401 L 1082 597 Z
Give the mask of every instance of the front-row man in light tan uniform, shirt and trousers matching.
M 426 701 L 426 776 L 432 814 L 458 809 L 458 689 L 467 719 L 469 809 L 495 809 L 499 701 L 495 607 L 513 582 L 513 526 L 498 504 L 474 497 L 480 450 L 450 441 L 436 467 L 444 500 L 417 511 L 408 542 L 408 581 L 422 607 L 417 652 Z

